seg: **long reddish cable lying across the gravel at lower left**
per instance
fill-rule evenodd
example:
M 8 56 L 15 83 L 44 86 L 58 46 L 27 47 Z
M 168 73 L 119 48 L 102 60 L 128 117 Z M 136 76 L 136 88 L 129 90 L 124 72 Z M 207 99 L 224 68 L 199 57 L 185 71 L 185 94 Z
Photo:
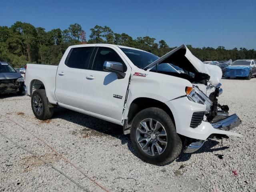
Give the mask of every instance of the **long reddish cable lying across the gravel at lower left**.
M 4 116 L 5 118 L 7 118 L 8 120 L 14 122 L 16 125 L 20 126 L 22 129 L 24 129 L 26 132 L 28 132 L 29 134 L 31 134 L 32 136 L 34 136 L 35 138 L 37 138 L 38 140 L 42 141 L 45 145 L 47 145 L 49 148 L 51 148 L 56 154 L 58 154 L 62 159 L 64 159 L 66 162 L 68 162 L 69 164 L 71 164 L 74 168 L 76 168 L 76 170 L 78 170 L 80 173 L 82 173 L 86 178 L 88 178 L 89 180 L 91 180 L 92 182 L 94 182 L 97 186 L 99 186 L 100 188 L 102 188 L 104 191 L 109 192 L 105 187 L 103 187 L 102 185 L 100 185 L 98 182 L 96 182 L 95 180 L 93 180 L 92 178 L 88 177 L 84 172 L 82 172 L 82 170 L 80 168 L 78 168 L 75 164 L 73 164 L 70 160 L 68 160 L 67 158 L 65 158 L 62 154 L 60 154 L 59 152 L 57 152 L 52 146 L 50 146 L 49 144 L 47 144 L 44 140 L 42 140 L 41 138 L 39 138 L 38 136 L 34 135 L 32 132 L 30 132 L 28 129 L 24 128 L 23 126 L 21 126 L 20 124 L 18 124 L 17 122 L 15 122 L 14 120 L 6 117 L 5 115 L 0 114 L 1 116 Z

